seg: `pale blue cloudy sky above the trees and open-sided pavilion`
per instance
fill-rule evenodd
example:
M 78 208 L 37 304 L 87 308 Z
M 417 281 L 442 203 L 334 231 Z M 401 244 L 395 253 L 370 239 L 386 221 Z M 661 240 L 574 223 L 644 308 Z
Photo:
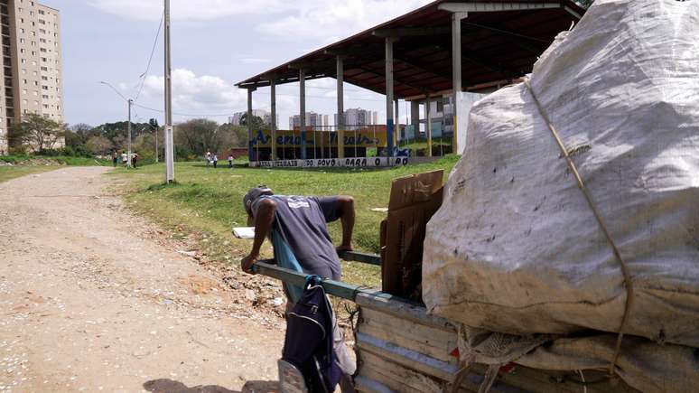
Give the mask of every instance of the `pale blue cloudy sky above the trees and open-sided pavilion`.
M 247 90 L 235 83 L 413 10 L 430 0 L 171 0 L 172 108 L 175 122 L 208 117 L 226 122 L 247 110 Z M 126 120 L 163 124 L 163 32 L 155 45 L 163 0 L 43 0 L 61 11 L 65 120 L 92 126 Z M 148 70 L 147 73 L 146 70 Z M 145 73 L 145 75 L 144 75 Z M 143 77 L 141 77 L 144 75 Z M 306 83 L 306 108 L 334 114 L 334 79 Z M 254 108 L 269 110 L 269 89 Z M 400 115 L 408 108 L 401 104 Z M 298 113 L 298 84 L 277 88 L 280 128 Z M 384 96 L 345 86 L 345 108 L 386 117 Z M 381 120 L 379 120 L 380 122 Z M 405 121 L 405 120 L 404 120 Z M 332 122 L 332 120 L 331 120 Z

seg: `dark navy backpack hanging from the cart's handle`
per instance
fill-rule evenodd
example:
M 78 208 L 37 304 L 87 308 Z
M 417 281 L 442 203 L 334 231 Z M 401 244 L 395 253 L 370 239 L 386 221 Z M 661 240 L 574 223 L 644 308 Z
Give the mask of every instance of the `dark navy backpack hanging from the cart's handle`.
M 333 348 L 332 317 L 321 277 L 306 277 L 303 295 L 287 315 L 282 360 L 301 371 L 312 393 L 331 393 L 342 378 Z

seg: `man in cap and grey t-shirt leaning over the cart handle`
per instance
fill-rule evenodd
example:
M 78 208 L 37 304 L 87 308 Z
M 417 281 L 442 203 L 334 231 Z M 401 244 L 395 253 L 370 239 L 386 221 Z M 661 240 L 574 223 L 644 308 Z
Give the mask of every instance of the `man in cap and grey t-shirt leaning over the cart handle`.
M 255 226 L 255 241 L 241 267 L 252 274 L 251 268 L 260 257 L 260 248 L 269 238 L 275 250 L 276 263 L 282 267 L 303 270 L 304 274 L 340 280 L 338 251 L 352 250 L 354 229 L 354 199 L 349 196 L 305 197 L 275 195 L 266 186 L 251 189 L 243 198 L 248 224 Z M 341 220 L 342 243 L 332 244 L 327 222 Z M 289 257 L 292 256 L 292 257 Z M 300 266 L 284 266 L 298 262 Z M 287 311 L 301 297 L 301 288 L 284 285 Z M 334 315 L 333 315 L 334 316 Z M 357 370 L 349 358 L 344 337 L 335 318 L 333 321 L 334 351 L 344 377 L 343 392 L 353 391 L 351 376 Z

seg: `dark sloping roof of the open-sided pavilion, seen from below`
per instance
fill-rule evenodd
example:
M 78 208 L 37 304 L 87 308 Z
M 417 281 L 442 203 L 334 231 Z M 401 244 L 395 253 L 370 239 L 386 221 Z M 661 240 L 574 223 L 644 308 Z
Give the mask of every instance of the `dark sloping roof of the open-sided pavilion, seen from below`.
M 467 91 L 507 83 L 530 72 L 556 34 L 570 29 L 585 12 L 573 1 L 437 0 L 243 80 L 237 86 L 269 86 L 271 78 L 277 85 L 296 82 L 299 67 L 303 67 L 306 80 L 335 78 L 336 55 L 342 55 L 346 82 L 385 94 L 385 37 L 399 36 L 393 49 L 396 98 L 422 97 L 425 91 L 451 91 L 452 13 L 440 9 L 449 4 L 482 6 L 484 10 L 494 5 L 555 7 L 469 12 L 461 21 L 462 88 Z

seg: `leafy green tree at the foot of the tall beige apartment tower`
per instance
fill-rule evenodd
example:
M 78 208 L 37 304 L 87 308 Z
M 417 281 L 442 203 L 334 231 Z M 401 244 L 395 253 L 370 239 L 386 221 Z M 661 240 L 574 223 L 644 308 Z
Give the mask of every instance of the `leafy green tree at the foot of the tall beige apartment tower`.
M 53 148 L 65 137 L 65 125 L 38 114 L 28 114 L 12 126 L 12 144 L 30 145 L 38 152 Z

